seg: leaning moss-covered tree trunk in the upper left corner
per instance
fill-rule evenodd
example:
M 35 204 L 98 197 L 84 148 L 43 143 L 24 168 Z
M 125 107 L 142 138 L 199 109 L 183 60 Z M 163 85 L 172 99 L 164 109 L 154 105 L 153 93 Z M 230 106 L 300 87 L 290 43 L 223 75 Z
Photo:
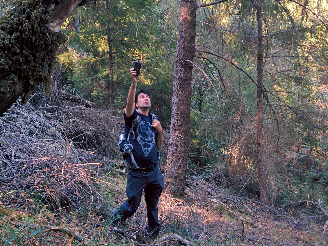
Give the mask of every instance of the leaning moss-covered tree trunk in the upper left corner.
M 51 67 L 65 36 L 61 25 L 86 0 L 17 1 L 0 19 L 0 115 L 33 86 L 51 85 Z M 41 3 L 41 4 L 40 4 Z

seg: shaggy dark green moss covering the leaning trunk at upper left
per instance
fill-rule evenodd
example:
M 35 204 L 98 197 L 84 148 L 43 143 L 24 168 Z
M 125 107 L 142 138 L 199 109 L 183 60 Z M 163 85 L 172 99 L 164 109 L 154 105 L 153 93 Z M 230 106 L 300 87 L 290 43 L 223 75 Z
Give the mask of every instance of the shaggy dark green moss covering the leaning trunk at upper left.
M 19 0 L 0 19 L 0 75 L 14 75 L 1 79 L 0 100 L 17 79 L 25 81 L 27 91 L 33 85 L 50 86 L 52 63 L 65 36 L 48 28 L 52 10 L 47 7 L 38 0 Z

